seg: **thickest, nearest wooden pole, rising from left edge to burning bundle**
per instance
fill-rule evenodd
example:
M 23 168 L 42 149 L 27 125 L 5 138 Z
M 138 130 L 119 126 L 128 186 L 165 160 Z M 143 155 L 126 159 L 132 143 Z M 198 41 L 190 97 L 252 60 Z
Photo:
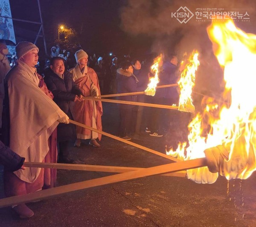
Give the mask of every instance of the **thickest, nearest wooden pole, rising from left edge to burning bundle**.
M 182 161 L 156 167 L 145 168 L 142 170 L 123 172 L 116 175 L 96 178 L 89 181 L 82 181 L 74 184 L 68 184 L 60 187 L 42 190 L 40 192 L 35 192 L 31 194 L 3 198 L 0 199 L 0 207 L 8 207 L 14 204 L 23 204 L 27 202 L 37 201 L 39 199 L 52 198 L 55 197 L 56 195 L 62 195 L 65 193 L 83 190 L 90 187 L 112 184 L 121 181 L 128 181 L 136 178 L 159 175 L 168 172 L 177 172 L 181 170 L 194 169 L 204 166 L 206 166 L 206 159 L 198 158 L 189 161 Z

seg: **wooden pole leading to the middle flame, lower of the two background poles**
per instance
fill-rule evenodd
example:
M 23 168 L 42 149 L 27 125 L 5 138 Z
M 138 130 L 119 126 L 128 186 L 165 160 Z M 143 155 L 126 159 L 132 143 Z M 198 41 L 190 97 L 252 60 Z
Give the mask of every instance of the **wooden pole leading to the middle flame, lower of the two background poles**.
M 107 103 L 128 104 L 128 105 L 134 105 L 134 106 L 156 107 L 156 108 L 162 108 L 162 109 L 178 109 L 178 106 L 168 106 L 168 105 L 160 105 L 160 104 L 153 104 L 153 103 L 139 103 L 139 102 L 113 100 L 113 99 L 105 99 L 105 98 L 93 98 L 91 96 L 83 97 L 83 99 L 84 100 L 101 101 L 101 102 L 107 102 Z

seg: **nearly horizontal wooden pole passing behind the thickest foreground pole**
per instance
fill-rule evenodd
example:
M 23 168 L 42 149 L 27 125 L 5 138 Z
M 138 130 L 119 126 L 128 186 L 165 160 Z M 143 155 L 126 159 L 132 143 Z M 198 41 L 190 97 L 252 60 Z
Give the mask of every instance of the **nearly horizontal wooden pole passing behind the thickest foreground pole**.
M 24 162 L 25 167 L 33 168 L 52 168 L 61 170 L 83 170 L 94 172 L 129 172 L 134 170 L 142 170 L 145 168 L 139 167 L 116 167 L 116 166 L 98 166 L 98 165 L 85 165 L 85 164 L 66 164 L 66 163 L 41 163 L 41 162 Z M 172 172 L 163 174 L 164 176 L 177 176 L 185 177 L 186 172 Z

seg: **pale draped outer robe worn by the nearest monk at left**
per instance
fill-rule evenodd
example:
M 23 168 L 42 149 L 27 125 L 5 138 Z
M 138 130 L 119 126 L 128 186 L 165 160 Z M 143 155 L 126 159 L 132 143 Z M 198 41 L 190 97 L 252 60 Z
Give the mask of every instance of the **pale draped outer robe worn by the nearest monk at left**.
M 18 61 L 6 75 L 10 110 L 10 148 L 26 161 L 42 162 L 49 151 L 48 138 L 65 113 L 39 87 L 36 69 Z M 33 183 L 41 168 L 26 168 L 15 173 Z

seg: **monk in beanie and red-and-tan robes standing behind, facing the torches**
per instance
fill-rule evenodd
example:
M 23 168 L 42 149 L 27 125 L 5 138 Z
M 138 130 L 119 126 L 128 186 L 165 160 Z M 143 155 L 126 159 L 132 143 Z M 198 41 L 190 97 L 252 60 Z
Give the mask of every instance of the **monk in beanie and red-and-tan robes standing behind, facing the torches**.
M 73 81 L 83 91 L 83 96 L 97 97 L 100 95 L 99 80 L 96 72 L 87 66 L 88 55 L 84 50 L 78 50 L 75 53 L 76 66 L 70 69 Z M 83 114 L 81 114 L 83 113 Z M 100 101 L 85 100 L 83 102 L 76 102 L 72 115 L 75 121 L 86 124 L 87 126 L 102 130 L 102 103 Z M 93 147 L 100 147 L 96 141 L 101 140 L 101 134 L 92 132 L 76 126 L 76 142 L 75 147 L 80 147 L 82 139 L 90 139 L 89 144 Z

